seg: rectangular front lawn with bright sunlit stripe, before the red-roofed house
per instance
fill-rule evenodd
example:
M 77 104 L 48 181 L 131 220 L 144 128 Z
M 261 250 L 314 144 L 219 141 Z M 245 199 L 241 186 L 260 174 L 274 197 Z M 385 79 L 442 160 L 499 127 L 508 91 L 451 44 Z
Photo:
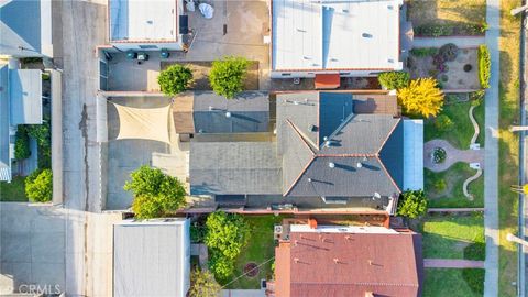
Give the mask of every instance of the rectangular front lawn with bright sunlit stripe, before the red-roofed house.
M 424 257 L 484 260 L 484 218 L 482 213 L 427 216 L 419 229 Z

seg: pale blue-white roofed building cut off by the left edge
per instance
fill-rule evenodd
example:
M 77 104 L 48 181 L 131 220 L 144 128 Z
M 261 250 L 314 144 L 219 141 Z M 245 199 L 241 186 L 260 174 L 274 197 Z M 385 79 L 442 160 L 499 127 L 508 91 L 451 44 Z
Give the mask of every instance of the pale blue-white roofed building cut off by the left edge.
M 0 180 L 12 178 L 16 127 L 42 124 L 42 72 L 0 65 Z

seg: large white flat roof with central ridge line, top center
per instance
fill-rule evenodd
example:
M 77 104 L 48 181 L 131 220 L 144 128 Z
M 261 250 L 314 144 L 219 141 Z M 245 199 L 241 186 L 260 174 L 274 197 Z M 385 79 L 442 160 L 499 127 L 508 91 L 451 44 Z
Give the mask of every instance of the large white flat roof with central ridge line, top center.
M 400 69 L 403 0 L 272 0 L 273 69 Z

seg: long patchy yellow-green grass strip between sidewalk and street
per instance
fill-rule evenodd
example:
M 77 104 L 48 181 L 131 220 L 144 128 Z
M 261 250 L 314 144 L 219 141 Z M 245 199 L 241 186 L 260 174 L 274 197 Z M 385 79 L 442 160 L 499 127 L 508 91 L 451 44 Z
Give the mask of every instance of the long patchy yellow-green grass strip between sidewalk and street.
M 507 233 L 517 232 L 518 196 L 509 190 L 518 183 L 518 138 L 508 127 L 519 119 L 519 40 L 520 18 L 512 16 L 510 9 L 520 6 L 520 0 L 501 3 L 501 85 L 499 85 L 499 189 L 498 208 L 499 249 L 499 296 L 516 296 L 517 249 L 506 241 Z

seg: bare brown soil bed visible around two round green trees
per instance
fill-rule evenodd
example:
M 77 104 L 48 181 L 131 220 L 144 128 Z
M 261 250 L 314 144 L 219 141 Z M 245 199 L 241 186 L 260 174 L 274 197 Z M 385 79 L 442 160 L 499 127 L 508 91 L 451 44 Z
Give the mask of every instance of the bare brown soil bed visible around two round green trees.
M 189 62 L 162 62 L 162 70 L 173 64 L 182 64 L 190 68 L 193 72 L 193 90 L 212 90 L 209 84 L 209 73 L 211 70 L 211 61 L 189 61 Z M 250 61 L 248 66 L 248 75 L 244 80 L 244 90 L 258 89 L 258 62 Z

